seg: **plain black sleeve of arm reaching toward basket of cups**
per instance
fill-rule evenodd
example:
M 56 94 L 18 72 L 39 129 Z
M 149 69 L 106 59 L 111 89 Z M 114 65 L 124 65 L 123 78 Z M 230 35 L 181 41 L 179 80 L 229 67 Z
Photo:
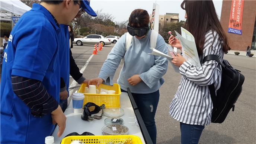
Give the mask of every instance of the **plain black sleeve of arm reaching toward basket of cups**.
M 80 73 L 79 68 L 76 65 L 74 58 L 72 57 L 71 49 L 69 49 L 69 63 L 70 63 L 70 75 L 75 81 L 79 80 L 83 74 Z

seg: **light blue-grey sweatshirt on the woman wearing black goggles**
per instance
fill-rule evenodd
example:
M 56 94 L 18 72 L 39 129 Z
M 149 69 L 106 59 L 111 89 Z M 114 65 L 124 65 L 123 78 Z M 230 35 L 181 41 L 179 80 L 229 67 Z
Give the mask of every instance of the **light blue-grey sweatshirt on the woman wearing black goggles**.
M 124 65 L 117 80 L 121 89 L 127 90 L 129 87 L 132 93 L 153 93 L 159 90 L 164 83 L 162 76 L 166 73 L 168 61 L 164 57 L 150 55 L 150 34 L 143 39 L 132 38 L 131 46 L 125 50 L 126 33 L 116 42 L 108 58 L 105 60 L 99 77 L 104 80 L 105 84 L 113 84 L 113 76 L 124 57 Z M 157 37 L 156 49 L 167 54 L 167 48 L 161 35 Z M 126 51 L 126 52 L 125 52 Z M 139 74 L 142 81 L 135 86 L 128 83 L 134 74 Z

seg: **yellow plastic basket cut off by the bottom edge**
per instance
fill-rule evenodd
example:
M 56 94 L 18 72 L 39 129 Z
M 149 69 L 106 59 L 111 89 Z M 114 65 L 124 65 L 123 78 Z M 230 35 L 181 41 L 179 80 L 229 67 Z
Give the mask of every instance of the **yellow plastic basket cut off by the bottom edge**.
M 122 143 L 127 139 L 131 139 L 132 144 L 142 144 L 140 137 L 135 135 L 77 135 L 68 136 L 62 139 L 61 144 L 70 144 L 74 140 L 79 140 L 85 144 L 108 144 Z

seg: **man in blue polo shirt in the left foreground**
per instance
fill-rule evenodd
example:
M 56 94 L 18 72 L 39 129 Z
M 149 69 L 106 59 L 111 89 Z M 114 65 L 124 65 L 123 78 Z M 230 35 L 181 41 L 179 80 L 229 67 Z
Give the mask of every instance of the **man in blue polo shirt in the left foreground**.
M 41 0 L 13 28 L 4 51 L 1 74 L 1 143 L 44 143 L 66 117 L 59 103 L 58 33 L 79 12 L 96 15 L 89 1 Z

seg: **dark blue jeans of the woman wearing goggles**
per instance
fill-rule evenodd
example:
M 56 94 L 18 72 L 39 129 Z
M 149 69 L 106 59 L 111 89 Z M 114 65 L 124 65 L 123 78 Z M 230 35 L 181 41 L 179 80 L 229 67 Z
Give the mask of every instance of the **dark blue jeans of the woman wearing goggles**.
M 126 91 L 121 89 L 121 92 Z M 159 90 L 153 93 L 132 93 L 150 138 L 154 144 L 156 144 L 155 114 L 159 102 L 159 95 Z

